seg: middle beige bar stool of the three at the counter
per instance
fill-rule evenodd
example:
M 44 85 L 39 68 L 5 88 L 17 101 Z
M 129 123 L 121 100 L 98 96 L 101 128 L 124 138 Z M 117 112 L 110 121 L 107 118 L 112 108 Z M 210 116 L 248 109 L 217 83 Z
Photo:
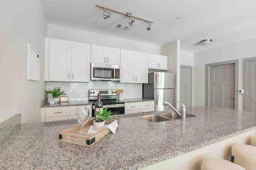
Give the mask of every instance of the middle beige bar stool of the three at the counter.
M 232 147 L 234 163 L 246 170 L 256 170 L 256 147 L 251 145 L 234 145 Z M 232 160 L 231 156 L 231 160 Z

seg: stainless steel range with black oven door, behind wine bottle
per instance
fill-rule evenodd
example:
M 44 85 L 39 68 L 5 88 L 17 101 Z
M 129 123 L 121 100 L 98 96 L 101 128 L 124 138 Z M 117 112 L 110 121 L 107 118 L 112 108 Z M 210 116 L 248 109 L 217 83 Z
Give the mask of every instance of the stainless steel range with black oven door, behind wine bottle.
M 98 93 L 100 93 L 103 108 L 108 107 L 108 110 L 111 110 L 111 115 L 124 114 L 124 102 L 116 99 L 117 90 L 89 90 L 89 101 L 92 102 L 92 117 L 94 117 L 94 105 L 97 102 Z

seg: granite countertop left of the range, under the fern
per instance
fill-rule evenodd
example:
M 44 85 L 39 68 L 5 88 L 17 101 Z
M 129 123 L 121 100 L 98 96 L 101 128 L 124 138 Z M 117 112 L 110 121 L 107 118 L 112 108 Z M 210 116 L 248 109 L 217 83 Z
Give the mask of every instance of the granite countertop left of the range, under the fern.
M 92 105 L 92 102 L 88 100 L 81 101 L 68 101 L 68 102 L 58 102 L 57 104 L 48 104 L 48 102 L 42 101 L 41 108 L 45 107 L 62 107 L 62 106 L 82 106 L 82 105 Z

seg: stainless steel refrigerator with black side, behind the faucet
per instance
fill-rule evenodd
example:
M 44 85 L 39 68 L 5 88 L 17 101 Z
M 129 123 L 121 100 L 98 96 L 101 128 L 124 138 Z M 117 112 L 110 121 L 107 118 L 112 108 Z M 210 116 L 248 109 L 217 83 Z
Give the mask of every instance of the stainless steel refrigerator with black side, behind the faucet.
M 142 85 L 142 96 L 155 101 L 155 111 L 170 109 L 163 105 L 164 100 L 174 106 L 174 80 L 172 72 L 148 73 L 148 84 Z

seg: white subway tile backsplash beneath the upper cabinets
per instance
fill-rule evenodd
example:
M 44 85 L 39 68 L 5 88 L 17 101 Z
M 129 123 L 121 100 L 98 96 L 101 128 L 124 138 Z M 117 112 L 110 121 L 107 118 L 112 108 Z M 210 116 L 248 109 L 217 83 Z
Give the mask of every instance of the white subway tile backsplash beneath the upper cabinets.
M 47 82 L 46 89 L 60 87 L 68 94 L 69 101 L 88 100 L 89 90 L 123 89 L 124 98 L 142 98 L 142 84 L 116 83 L 108 81 L 93 81 L 84 83 Z M 74 94 L 73 90 L 76 90 Z

